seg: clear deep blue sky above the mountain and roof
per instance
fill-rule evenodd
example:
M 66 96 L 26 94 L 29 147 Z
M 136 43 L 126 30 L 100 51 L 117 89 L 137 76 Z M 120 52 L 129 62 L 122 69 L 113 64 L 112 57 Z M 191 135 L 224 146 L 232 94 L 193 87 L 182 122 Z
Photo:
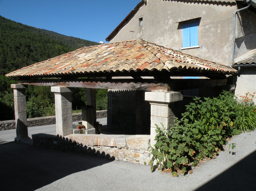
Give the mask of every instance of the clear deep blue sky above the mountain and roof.
M 0 15 L 24 25 L 99 43 L 105 42 L 140 1 L 0 0 Z

